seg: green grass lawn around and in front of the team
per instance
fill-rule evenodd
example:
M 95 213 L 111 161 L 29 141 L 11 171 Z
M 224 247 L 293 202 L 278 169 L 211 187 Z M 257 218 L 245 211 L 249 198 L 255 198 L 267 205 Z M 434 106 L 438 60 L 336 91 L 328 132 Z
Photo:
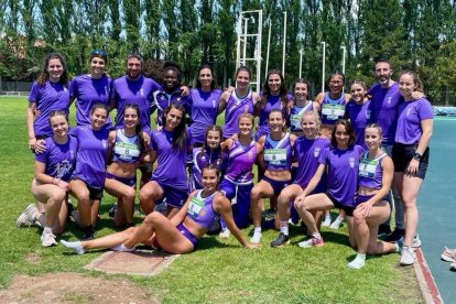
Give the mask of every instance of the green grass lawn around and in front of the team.
M 102 253 L 75 256 L 62 246 L 42 248 L 39 228 L 15 228 L 17 217 L 33 202 L 30 184 L 34 159 L 28 150 L 25 109 L 25 98 L 0 97 L 0 222 L 3 230 L 0 286 L 3 289 L 18 273 L 88 273 L 83 267 Z M 104 198 L 97 236 L 113 231 L 107 215 L 113 200 L 108 195 Z M 246 237 L 250 231 L 251 228 L 243 230 Z M 195 252 L 176 259 L 160 275 L 129 278 L 166 303 L 422 302 L 413 268 L 399 267 L 399 254 L 368 258 L 360 271 L 347 269 L 347 261 L 356 252 L 348 246 L 346 226 L 339 231 L 323 229 L 326 241 L 323 248 L 298 248 L 296 243 L 303 239 L 298 227 L 291 227 L 292 242 L 287 247 L 270 248 L 275 236 L 273 230 L 264 231 L 259 250 L 241 248 L 232 236 L 228 240 L 205 237 Z M 74 240 L 80 232 L 69 224 L 62 237 Z M 37 262 L 29 262 L 31 256 L 37 257 Z

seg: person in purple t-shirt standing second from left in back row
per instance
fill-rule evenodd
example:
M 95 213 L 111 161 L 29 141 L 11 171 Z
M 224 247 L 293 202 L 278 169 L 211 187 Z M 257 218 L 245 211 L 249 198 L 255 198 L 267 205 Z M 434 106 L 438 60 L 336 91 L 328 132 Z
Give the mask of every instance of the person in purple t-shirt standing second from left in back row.
M 76 124 L 90 124 L 90 109 L 95 104 L 109 104 L 112 79 L 106 74 L 108 57 L 102 50 L 90 53 L 90 73 L 76 76 L 69 85 L 72 102 L 76 100 Z M 107 123 L 111 123 L 108 118 Z

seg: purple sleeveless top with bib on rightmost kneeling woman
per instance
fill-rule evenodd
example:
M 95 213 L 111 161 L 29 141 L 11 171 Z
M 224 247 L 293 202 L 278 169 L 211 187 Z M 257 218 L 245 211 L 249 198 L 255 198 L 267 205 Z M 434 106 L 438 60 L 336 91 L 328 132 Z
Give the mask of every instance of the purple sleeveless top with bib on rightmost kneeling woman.
M 368 158 L 369 151 L 362 153 L 358 171 L 358 185 L 370 189 L 380 189 L 383 177 L 381 161 L 387 156 L 383 152 L 376 159 Z

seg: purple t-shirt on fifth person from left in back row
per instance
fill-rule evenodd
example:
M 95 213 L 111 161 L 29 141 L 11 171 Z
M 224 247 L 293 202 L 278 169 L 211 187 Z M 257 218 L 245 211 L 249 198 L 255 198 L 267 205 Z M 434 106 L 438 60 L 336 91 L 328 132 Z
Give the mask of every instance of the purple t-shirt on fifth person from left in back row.
M 216 124 L 220 96 L 221 90 L 219 89 L 211 91 L 203 91 L 202 89 L 191 90 L 187 104 L 192 109 L 191 132 L 196 143 L 204 143 L 204 134 L 207 127 Z

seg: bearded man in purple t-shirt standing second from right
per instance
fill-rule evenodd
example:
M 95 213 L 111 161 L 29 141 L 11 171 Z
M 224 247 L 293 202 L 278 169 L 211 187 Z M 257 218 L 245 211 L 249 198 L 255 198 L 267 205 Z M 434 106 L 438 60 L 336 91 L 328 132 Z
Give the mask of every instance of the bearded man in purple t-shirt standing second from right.
M 377 84 L 370 87 L 368 94 L 372 96 L 373 122 L 380 124 L 383 131 L 382 145 L 388 155 L 391 156 L 392 145 L 394 143 L 395 129 L 398 127 L 398 108 L 403 102 L 399 85 L 391 79 L 393 70 L 390 62 L 386 58 L 376 61 L 373 75 Z M 402 199 L 395 187 L 392 187 L 392 197 L 390 195 L 389 202 L 392 207 L 392 198 L 394 198 L 394 231 L 387 237 L 388 241 L 399 240 L 404 236 L 404 214 L 402 210 Z M 380 225 L 379 236 L 388 235 L 390 230 L 390 220 Z

